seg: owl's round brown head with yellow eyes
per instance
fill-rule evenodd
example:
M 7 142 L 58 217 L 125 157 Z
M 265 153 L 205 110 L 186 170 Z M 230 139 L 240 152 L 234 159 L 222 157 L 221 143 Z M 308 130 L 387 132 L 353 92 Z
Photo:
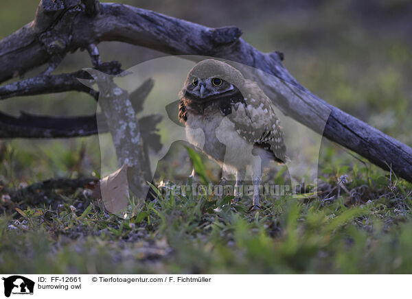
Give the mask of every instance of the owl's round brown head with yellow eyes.
M 238 93 L 243 83 L 240 71 L 225 62 L 207 59 L 189 72 L 181 96 L 194 101 L 209 101 Z

